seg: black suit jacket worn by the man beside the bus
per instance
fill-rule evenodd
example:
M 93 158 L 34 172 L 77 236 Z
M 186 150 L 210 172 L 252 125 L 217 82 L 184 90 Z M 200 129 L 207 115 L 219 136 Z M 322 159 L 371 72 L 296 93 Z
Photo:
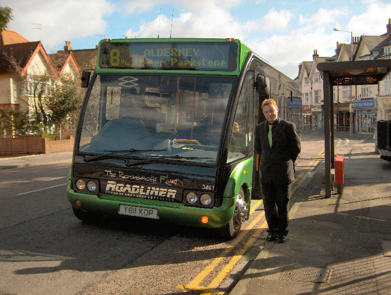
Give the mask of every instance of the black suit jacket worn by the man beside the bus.
M 272 127 L 269 145 L 266 120 L 255 127 L 254 150 L 260 157 L 259 174 L 263 183 L 288 184 L 295 179 L 295 161 L 300 154 L 300 138 L 294 123 L 278 118 Z

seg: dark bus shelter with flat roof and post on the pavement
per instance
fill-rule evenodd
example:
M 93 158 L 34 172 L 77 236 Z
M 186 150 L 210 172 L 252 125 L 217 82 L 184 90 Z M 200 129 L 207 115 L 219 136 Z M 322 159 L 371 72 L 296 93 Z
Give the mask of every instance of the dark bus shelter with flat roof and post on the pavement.
M 331 197 L 331 171 L 334 169 L 333 86 L 373 85 L 391 70 L 391 59 L 321 62 L 317 68 L 323 76 L 325 132 L 325 197 Z

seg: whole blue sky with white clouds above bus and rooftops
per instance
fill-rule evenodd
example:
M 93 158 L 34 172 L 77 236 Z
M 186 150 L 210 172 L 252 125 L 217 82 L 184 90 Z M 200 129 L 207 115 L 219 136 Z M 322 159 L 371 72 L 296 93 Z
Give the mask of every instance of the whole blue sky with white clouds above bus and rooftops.
M 299 63 L 333 56 L 337 42 L 386 33 L 390 0 L 0 0 L 8 29 L 48 53 L 95 48 L 103 38 L 237 38 L 294 79 Z M 343 31 L 333 31 L 338 28 Z M 346 31 L 346 32 L 344 32 Z

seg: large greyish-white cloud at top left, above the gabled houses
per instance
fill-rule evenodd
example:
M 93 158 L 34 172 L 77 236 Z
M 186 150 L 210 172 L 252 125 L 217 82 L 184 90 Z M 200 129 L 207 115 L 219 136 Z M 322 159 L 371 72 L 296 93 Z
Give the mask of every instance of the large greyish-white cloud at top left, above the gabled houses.
M 102 34 L 107 25 L 103 17 L 115 10 L 108 0 L 3 0 L 2 6 L 13 10 L 14 19 L 8 29 L 18 32 L 29 41 L 38 41 L 42 36 L 47 51 L 64 43 L 64 40 Z M 40 27 L 42 30 L 34 29 Z

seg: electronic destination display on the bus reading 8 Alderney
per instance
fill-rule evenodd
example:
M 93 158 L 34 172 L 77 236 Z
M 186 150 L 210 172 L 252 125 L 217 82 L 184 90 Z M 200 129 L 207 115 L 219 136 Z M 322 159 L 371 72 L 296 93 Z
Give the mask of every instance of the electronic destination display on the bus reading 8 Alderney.
M 234 71 L 235 42 L 103 42 L 101 68 Z

